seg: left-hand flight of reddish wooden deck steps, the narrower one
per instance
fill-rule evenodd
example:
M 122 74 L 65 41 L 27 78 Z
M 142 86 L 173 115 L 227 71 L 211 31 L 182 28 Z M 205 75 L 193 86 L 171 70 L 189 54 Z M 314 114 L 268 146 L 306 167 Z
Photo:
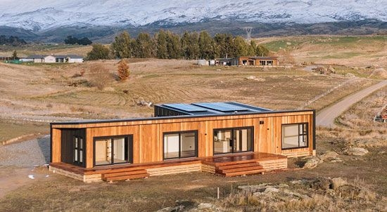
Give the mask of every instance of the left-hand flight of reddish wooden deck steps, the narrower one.
M 149 173 L 145 169 L 136 169 L 133 171 L 123 171 L 117 170 L 115 172 L 104 173 L 102 174 L 102 180 L 111 182 L 118 180 L 133 180 L 140 178 L 147 178 Z

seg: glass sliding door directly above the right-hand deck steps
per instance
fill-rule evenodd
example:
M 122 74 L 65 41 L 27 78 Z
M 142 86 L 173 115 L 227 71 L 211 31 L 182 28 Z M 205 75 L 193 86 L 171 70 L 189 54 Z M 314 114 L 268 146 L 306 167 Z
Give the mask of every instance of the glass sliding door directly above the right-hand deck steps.
M 214 154 L 253 151 L 253 127 L 214 130 Z

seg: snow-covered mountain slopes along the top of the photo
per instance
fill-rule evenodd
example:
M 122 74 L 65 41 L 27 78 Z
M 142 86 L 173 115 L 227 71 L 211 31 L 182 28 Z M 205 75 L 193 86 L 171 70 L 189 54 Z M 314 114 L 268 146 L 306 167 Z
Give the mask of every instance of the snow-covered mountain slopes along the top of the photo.
M 40 31 L 63 26 L 246 22 L 387 22 L 387 0 L 2 0 L 0 26 Z

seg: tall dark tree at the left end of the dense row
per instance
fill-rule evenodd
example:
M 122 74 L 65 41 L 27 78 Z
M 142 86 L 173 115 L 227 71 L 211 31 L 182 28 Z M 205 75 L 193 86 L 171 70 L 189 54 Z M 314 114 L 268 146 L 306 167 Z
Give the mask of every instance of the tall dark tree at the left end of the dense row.
M 132 40 L 127 31 L 122 32 L 118 37 L 115 37 L 110 48 L 117 58 L 132 58 Z

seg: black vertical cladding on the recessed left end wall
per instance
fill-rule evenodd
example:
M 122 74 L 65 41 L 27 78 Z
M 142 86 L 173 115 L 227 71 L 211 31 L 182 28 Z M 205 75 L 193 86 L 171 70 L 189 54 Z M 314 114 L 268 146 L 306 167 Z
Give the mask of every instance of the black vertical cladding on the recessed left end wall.
M 75 138 L 82 138 L 83 142 L 85 142 L 86 129 L 84 129 L 84 128 L 80 128 L 80 129 L 63 128 L 63 129 L 61 129 L 61 161 L 63 163 L 75 164 L 75 161 L 74 161 L 74 154 L 75 154 L 74 139 Z M 82 144 L 82 146 L 85 146 L 85 145 Z M 84 161 L 86 158 L 85 155 L 83 154 L 82 157 L 83 157 L 82 161 Z M 82 166 L 84 166 L 84 165 L 82 165 Z

